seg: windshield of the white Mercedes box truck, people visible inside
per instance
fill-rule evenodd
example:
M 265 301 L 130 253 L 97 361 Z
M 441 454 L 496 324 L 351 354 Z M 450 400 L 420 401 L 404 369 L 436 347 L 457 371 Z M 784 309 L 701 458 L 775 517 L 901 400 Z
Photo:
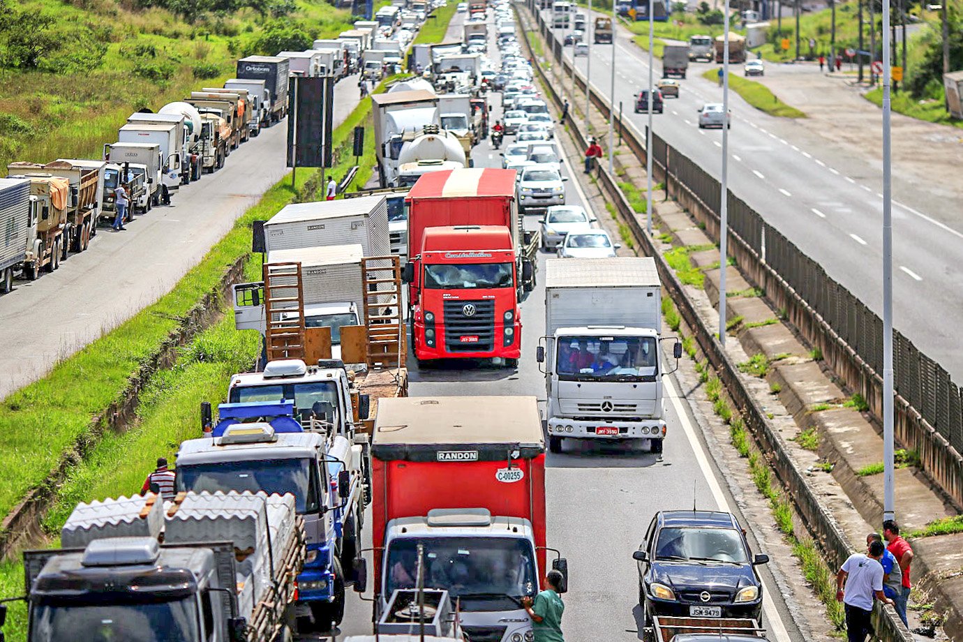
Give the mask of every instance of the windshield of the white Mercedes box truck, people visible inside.
M 655 337 L 559 337 L 563 381 L 655 381 Z

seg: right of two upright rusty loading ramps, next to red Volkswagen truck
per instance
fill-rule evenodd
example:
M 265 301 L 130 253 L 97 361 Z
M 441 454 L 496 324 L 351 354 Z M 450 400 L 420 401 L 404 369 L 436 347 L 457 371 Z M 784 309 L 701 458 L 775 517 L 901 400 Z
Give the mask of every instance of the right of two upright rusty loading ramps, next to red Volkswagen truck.
M 400 257 L 366 256 L 361 259 L 365 284 L 364 318 L 368 367 L 403 368 L 407 356 Z

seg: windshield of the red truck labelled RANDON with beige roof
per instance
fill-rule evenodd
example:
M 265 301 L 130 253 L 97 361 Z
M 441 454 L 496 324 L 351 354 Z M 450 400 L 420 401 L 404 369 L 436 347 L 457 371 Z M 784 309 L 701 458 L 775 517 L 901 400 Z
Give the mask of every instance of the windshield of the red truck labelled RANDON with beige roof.
M 518 599 L 534 595 L 532 544 L 513 537 L 426 537 L 396 539 L 388 547 L 386 596 L 414 588 L 418 545 L 425 545 L 425 586 L 447 589 L 468 610 L 518 608 Z M 471 602 L 488 602 L 472 608 Z M 495 604 L 495 603 L 504 604 Z

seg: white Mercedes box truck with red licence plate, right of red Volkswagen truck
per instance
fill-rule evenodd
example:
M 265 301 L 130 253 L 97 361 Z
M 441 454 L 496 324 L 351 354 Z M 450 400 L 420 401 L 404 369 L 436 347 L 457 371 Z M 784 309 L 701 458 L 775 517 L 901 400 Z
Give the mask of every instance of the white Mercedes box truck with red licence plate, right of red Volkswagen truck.
M 667 368 L 652 258 L 549 259 L 544 364 L 549 449 L 563 439 L 645 440 L 662 452 Z M 678 361 L 682 345 L 675 343 Z

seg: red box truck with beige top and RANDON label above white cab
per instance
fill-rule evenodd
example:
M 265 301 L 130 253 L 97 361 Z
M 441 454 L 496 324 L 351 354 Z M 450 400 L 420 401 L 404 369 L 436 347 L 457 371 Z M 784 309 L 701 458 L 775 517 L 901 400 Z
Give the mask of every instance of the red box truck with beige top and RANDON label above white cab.
M 381 399 L 371 454 L 376 608 L 414 586 L 421 545 L 426 588 L 458 601 L 471 639 L 531 639 L 520 600 L 548 551 L 535 398 Z M 564 559 L 552 568 L 567 578 Z

